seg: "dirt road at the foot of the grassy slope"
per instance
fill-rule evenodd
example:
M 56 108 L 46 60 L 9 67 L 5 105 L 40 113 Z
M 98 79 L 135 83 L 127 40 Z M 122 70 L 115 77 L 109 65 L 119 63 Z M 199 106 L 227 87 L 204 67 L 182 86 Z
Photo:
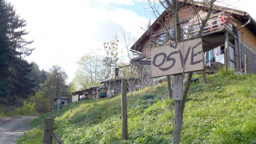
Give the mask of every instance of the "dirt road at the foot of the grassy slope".
M 0 144 L 15 144 L 25 130 L 29 129 L 28 121 L 34 116 L 6 116 L 0 118 Z

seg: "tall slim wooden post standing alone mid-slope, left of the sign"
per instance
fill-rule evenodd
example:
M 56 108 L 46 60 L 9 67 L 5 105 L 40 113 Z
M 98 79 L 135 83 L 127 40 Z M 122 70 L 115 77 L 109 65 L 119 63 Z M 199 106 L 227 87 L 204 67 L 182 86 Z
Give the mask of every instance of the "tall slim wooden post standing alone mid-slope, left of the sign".
M 128 118 L 127 118 L 127 80 L 122 79 L 122 97 L 121 97 L 121 111 L 122 111 L 122 140 L 128 139 Z

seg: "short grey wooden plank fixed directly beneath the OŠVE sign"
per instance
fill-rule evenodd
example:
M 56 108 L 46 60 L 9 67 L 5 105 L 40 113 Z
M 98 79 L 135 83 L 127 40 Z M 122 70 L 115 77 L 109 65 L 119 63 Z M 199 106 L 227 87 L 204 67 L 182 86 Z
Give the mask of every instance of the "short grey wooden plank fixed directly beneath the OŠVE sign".
M 182 99 L 182 74 L 173 76 L 173 101 Z

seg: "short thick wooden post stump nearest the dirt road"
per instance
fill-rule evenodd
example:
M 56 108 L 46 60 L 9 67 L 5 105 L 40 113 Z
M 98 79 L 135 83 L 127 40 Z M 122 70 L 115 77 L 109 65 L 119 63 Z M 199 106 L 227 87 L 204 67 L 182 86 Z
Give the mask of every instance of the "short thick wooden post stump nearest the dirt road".
M 53 125 L 54 118 L 45 118 L 45 135 L 43 141 L 45 144 L 52 144 L 51 134 L 53 133 Z

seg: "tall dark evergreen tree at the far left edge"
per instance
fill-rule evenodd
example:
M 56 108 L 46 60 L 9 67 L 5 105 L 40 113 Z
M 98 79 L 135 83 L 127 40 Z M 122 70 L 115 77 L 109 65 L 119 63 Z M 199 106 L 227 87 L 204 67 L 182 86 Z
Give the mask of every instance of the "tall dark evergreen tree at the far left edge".
M 34 50 L 27 47 L 33 41 L 23 38 L 26 25 L 11 3 L 0 0 L 0 103 L 6 105 L 33 93 L 33 80 L 25 77 L 32 65 L 24 58 Z

